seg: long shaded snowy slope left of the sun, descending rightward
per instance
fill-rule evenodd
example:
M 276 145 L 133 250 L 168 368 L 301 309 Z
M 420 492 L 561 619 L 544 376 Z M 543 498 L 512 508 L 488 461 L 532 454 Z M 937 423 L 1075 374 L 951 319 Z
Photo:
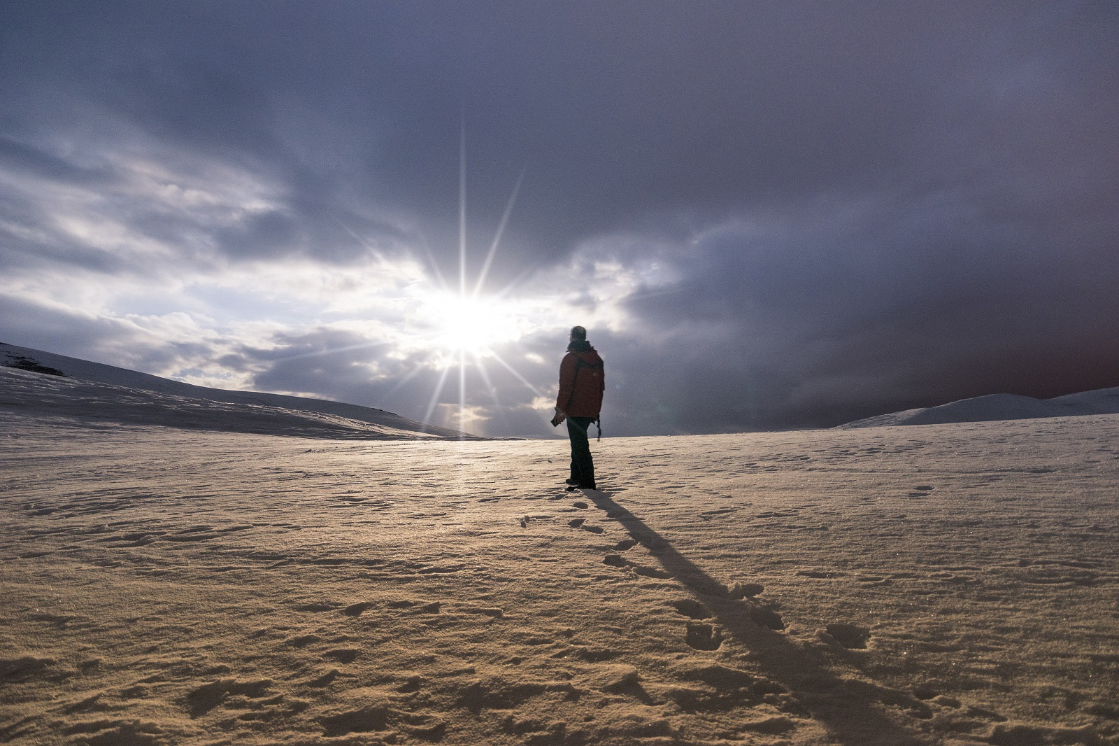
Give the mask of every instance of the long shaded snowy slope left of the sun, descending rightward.
M 0 343 L 0 413 L 303 438 L 476 438 L 369 407 L 207 389 Z

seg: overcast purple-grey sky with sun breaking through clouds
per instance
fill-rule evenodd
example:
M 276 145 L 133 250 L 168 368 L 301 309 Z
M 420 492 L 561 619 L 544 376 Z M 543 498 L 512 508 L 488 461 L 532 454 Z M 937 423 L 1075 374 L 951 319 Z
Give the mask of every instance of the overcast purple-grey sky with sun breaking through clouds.
M 574 324 L 608 435 L 1116 386 L 1117 40 L 1110 0 L 3 3 L 0 342 L 498 436 L 554 432 Z

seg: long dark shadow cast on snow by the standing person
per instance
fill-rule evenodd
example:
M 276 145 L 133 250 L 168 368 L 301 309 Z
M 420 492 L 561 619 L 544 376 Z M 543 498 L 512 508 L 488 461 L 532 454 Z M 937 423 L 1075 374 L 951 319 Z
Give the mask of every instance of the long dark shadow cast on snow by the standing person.
M 811 717 L 828 730 L 834 743 L 848 746 L 930 743 L 928 737 L 899 722 L 903 712 L 919 719 L 930 718 L 931 710 L 924 702 L 902 691 L 840 679 L 828 669 L 818 652 L 805 650 L 779 634 L 784 623 L 774 610 L 735 597 L 739 594 L 676 551 L 665 537 L 615 503 L 610 493 L 584 489 L 583 494 L 605 511 L 608 517 L 618 521 L 634 541 L 657 558 L 665 572 L 706 606 L 718 625 L 750 650 L 753 662 L 762 672 L 787 687 Z M 708 628 L 704 634 L 704 626 L 689 625 L 688 644 L 698 650 L 717 650 L 722 644 L 720 633 Z M 891 712 L 886 707 L 897 710 Z

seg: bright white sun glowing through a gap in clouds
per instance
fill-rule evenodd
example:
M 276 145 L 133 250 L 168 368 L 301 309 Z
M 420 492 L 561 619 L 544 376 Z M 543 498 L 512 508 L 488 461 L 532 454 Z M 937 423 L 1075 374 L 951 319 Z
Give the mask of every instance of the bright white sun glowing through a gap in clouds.
M 509 301 L 439 291 L 426 299 L 425 307 L 433 342 L 443 352 L 481 354 L 521 336 L 516 309 Z

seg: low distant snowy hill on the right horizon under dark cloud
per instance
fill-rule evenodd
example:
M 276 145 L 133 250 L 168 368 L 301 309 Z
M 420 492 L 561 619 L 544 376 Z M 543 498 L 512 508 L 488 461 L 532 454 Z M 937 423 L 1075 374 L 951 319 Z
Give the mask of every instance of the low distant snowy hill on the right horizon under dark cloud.
M 944 425 L 948 422 L 987 422 L 990 420 L 1028 420 L 1038 417 L 1074 417 L 1081 414 L 1119 414 L 1119 388 L 1084 391 L 1033 399 L 1017 394 L 988 394 L 962 399 L 940 407 L 908 409 L 878 414 L 840 425 L 839 430 L 878 428 L 893 425 Z

